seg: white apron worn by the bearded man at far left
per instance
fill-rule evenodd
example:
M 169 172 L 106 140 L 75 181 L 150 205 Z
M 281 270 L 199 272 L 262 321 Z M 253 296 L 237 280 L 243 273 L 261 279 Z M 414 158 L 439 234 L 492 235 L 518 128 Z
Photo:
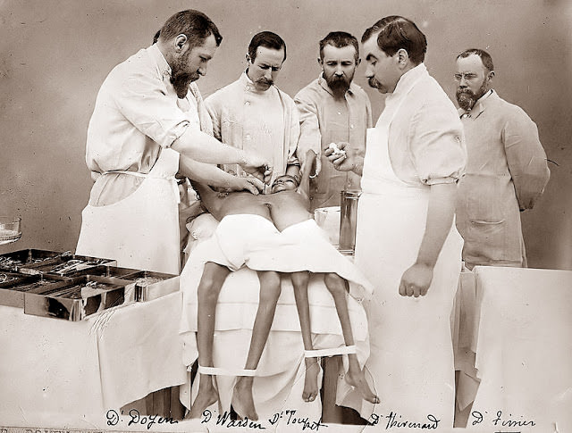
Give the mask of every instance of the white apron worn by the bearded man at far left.
M 117 203 L 86 206 L 76 254 L 114 259 L 123 268 L 178 275 L 180 193 L 174 178 L 178 170 L 179 154 L 167 148 L 148 174 L 120 171 L 145 179 Z

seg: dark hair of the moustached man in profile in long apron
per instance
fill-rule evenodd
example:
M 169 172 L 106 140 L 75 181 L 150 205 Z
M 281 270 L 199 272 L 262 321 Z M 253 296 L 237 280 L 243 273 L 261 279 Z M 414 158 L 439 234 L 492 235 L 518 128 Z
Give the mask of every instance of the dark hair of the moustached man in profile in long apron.
M 385 54 L 391 56 L 404 49 L 408 52 L 411 62 L 419 64 L 425 60 L 427 39 L 415 22 L 397 15 L 385 17 L 366 29 L 361 37 L 362 43 L 376 33 L 377 46 Z

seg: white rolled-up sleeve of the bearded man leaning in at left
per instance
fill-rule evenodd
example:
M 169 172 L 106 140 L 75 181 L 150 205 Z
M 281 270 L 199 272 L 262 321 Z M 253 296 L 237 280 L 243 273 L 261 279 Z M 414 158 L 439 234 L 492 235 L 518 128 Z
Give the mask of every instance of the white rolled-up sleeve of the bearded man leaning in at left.
M 162 147 L 171 146 L 189 126 L 176 101 L 166 96 L 163 81 L 143 74 L 122 82 L 115 103 L 135 128 Z

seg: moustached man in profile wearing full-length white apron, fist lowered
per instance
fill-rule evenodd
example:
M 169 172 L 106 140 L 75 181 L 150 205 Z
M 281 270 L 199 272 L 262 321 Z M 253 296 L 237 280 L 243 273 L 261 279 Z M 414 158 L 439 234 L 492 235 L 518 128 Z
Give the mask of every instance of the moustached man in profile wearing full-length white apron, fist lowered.
M 461 270 L 455 228 L 464 172 L 463 127 L 425 68 L 425 35 L 413 21 L 385 17 L 362 37 L 366 78 L 385 98 L 367 130 L 366 155 L 339 144 L 334 166 L 362 175 L 355 263 L 374 284 L 367 304 L 374 390 L 397 420 L 450 429 L 455 373 L 450 312 Z M 413 297 L 415 296 L 415 297 Z M 339 382 L 338 404 L 367 419 L 374 408 Z

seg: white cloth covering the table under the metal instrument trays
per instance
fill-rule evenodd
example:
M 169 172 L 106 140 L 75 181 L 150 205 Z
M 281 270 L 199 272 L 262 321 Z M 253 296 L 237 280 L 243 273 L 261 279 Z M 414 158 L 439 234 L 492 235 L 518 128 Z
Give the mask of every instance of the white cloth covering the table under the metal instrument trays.
M 181 297 L 177 292 L 78 322 L 0 306 L 0 423 L 109 429 L 108 410 L 183 384 Z

